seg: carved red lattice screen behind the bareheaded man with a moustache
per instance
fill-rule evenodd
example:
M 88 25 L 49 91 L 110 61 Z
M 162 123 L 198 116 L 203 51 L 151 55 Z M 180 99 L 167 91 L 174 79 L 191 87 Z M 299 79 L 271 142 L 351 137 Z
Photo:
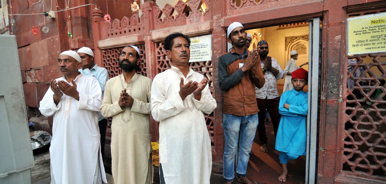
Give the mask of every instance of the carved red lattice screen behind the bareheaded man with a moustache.
M 166 57 L 164 43 L 157 43 L 156 51 L 156 73 L 159 74 L 170 68 L 170 59 Z M 193 71 L 203 74 L 204 77 L 208 79 L 210 92 L 213 94 L 213 65 L 212 61 L 203 61 L 203 62 L 191 62 L 190 67 Z M 214 148 L 214 132 L 213 132 L 213 123 L 214 116 L 213 112 L 210 115 L 204 114 L 205 122 L 207 124 L 210 142 L 212 144 L 212 149 Z

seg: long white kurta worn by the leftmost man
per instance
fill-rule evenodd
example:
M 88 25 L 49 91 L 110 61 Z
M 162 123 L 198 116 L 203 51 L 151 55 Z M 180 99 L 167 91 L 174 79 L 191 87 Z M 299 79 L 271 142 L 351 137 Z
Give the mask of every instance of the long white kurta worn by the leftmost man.
M 64 76 L 58 80 L 66 81 Z M 49 149 L 51 184 L 102 183 L 98 179 L 95 181 L 96 174 L 107 183 L 98 128 L 102 90 L 94 77 L 80 74 L 74 82 L 79 92 L 79 101 L 63 94 L 58 105 L 55 105 L 51 88 L 40 101 L 39 110 L 42 115 L 54 115 Z

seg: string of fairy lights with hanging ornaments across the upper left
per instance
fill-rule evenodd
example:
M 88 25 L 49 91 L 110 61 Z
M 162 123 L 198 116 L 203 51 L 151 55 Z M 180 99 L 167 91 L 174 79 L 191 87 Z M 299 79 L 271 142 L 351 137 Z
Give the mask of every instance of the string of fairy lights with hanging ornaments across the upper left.
M 57 11 L 52 11 L 52 1 L 53 0 L 50 0 L 51 1 L 51 8 L 49 8 L 49 11 L 46 11 L 45 7 L 44 7 L 44 0 L 35 0 L 35 1 L 31 1 L 31 0 L 28 0 L 29 3 L 31 3 L 32 5 L 35 5 L 35 4 L 38 4 L 38 3 L 42 3 L 42 8 L 43 8 L 43 12 L 39 12 L 39 13 L 35 13 L 35 12 L 32 12 L 31 14 L 12 14 L 12 4 L 11 4 L 11 0 L 9 0 L 9 9 L 10 9 L 10 14 L 5 14 L 5 13 L 1 13 L 3 15 L 3 18 L 5 18 L 5 16 L 9 16 L 10 18 L 10 23 L 11 23 L 11 26 L 10 26 L 10 34 L 14 34 L 14 31 L 17 30 L 17 27 L 15 25 L 15 19 L 14 19 L 14 16 L 16 15 L 43 15 L 43 18 L 44 18 L 44 27 L 42 28 L 42 32 L 44 33 L 48 33 L 49 32 L 49 28 L 46 26 L 46 17 L 49 16 L 49 14 L 54 14 L 56 12 L 63 12 L 63 11 L 66 11 L 67 12 L 67 15 L 68 15 L 68 19 L 66 20 L 67 24 L 68 24 L 68 37 L 73 37 L 73 35 L 71 34 L 71 30 L 72 30 L 72 25 L 71 25 L 71 15 L 70 15 L 70 11 L 71 9 L 75 9 L 75 8 L 80 8 L 80 7 L 85 7 L 85 6 L 89 6 L 89 5 L 94 5 L 96 6 L 95 4 L 85 4 L 85 5 L 80 5 L 80 6 L 76 6 L 76 7 L 71 7 L 70 8 L 70 0 L 64 0 L 65 1 L 65 8 L 60 8 L 59 7 L 59 3 L 58 3 L 58 0 L 55 0 L 56 1 L 56 7 L 58 8 Z M 137 12 L 139 10 L 139 5 L 137 4 L 136 2 L 137 0 L 134 0 L 134 3 L 131 4 L 131 10 L 133 12 Z M 5 6 L 5 4 L 3 4 L 3 7 Z M 0 8 L 1 10 L 2 8 Z M 47 9 L 48 10 L 48 9 Z M 105 16 L 103 17 L 103 19 L 105 19 L 107 22 L 110 22 L 111 20 L 111 17 L 110 15 L 108 14 L 108 5 L 107 5 L 107 0 L 106 0 L 106 13 Z M 7 27 L 4 28 L 5 30 L 7 30 Z M 37 30 L 35 28 L 35 26 L 33 25 L 32 26 L 32 35 L 36 35 L 37 34 Z

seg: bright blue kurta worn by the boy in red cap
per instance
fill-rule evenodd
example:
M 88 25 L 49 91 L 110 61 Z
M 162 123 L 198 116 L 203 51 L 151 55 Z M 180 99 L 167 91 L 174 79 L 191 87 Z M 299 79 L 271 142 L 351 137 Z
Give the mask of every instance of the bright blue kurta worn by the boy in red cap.
M 306 154 L 306 116 L 308 110 L 308 93 L 286 91 L 281 95 L 279 113 L 281 114 L 275 149 L 295 155 Z M 283 105 L 289 104 L 289 110 Z

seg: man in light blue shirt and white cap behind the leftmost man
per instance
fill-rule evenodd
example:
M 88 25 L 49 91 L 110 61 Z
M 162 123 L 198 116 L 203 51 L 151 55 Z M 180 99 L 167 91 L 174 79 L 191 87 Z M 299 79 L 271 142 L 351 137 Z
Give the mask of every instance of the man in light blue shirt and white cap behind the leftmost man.
M 81 59 L 82 68 L 79 69 L 80 73 L 85 76 L 95 77 L 98 80 L 99 86 L 105 91 L 106 81 L 108 80 L 107 69 L 99 67 L 94 61 L 94 52 L 88 47 L 82 47 L 78 50 L 78 54 Z M 102 159 L 105 157 L 105 140 L 106 140 L 106 128 L 107 118 L 103 117 L 101 113 L 98 116 L 98 126 L 100 132 L 100 145 L 102 152 Z

